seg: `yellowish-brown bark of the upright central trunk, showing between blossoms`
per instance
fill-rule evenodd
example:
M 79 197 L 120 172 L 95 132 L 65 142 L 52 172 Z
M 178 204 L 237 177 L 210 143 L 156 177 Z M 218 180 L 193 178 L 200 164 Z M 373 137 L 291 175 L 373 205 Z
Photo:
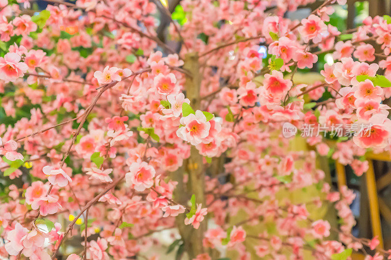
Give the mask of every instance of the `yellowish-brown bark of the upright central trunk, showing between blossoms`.
M 201 75 L 199 73 L 199 63 L 196 54 L 187 54 L 185 57 L 184 68 L 192 72 L 193 77 L 186 76 L 186 96 L 190 99 L 190 104 L 194 110 L 200 108 L 200 82 Z M 174 192 L 175 200 L 180 203 L 186 203 L 190 197 L 195 195 L 195 202 L 202 203 L 202 206 L 206 206 L 205 193 L 204 193 L 204 181 L 205 173 L 202 167 L 202 156 L 198 153 L 194 146 L 191 147 L 191 153 L 189 159 L 185 160 L 184 165 L 173 173 L 173 179 L 178 181 L 178 185 Z M 189 178 L 187 185 L 183 183 L 184 173 L 188 173 Z M 190 259 L 193 259 L 196 255 L 204 253 L 202 246 L 203 234 L 206 230 L 206 220 L 201 222 L 198 229 L 193 226 L 186 226 L 184 224 L 185 215 L 181 214 L 177 217 L 176 223 L 178 225 L 179 233 L 185 244 L 185 249 L 189 254 Z

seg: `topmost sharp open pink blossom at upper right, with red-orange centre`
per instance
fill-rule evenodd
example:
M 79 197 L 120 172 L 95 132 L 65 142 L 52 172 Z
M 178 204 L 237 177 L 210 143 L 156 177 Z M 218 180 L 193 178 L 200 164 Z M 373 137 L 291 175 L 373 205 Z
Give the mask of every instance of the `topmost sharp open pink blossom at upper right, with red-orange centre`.
M 303 19 L 302 24 L 299 30 L 305 42 L 312 40 L 314 43 L 319 43 L 322 40 L 322 34 L 327 32 L 327 25 L 316 15 Z

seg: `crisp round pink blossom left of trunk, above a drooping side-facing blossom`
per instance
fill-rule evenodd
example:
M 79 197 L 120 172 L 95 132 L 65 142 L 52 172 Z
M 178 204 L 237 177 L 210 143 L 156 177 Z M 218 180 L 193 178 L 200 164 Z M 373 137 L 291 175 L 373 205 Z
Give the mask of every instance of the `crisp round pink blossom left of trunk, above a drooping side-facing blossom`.
M 134 184 L 136 191 L 143 191 L 152 187 L 154 176 L 155 169 L 147 162 L 139 160 L 130 165 L 130 172 L 126 174 L 126 182 Z

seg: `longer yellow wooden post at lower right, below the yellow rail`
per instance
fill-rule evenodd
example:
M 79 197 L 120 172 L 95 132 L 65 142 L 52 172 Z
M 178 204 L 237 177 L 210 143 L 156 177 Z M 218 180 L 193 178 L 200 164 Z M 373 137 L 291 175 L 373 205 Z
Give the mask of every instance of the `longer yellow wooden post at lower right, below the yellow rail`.
M 372 235 L 378 236 L 380 244 L 378 247 L 383 248 L 383 235 L 382 228 L 380 223 L 380 213 L 379 213 L 379 201 L 377 198 L 377 189 L 375 181 L 375 172 L 373 170 L 373 162 L 371 159 L 367 159 L 369 164 L 369 169 L 365 174 L 367 180 L 367 190 L 369 198 L 369 213 L 370 213 L 370 222 L 372 225 Z

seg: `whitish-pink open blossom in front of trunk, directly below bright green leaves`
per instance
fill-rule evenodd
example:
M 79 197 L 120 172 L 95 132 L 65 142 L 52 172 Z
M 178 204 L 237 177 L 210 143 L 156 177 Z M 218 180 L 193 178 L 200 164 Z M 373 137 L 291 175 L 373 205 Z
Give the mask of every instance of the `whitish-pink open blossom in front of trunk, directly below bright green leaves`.
M 206 120 L 200 110 L 195 111 L 195 114 L 181 118 L 180 123 L 184 126 L 176 131 L 176 135 L 192 145 L 201 143 L 204 138 L 208 137 L 211 128 L 211 123 Z

